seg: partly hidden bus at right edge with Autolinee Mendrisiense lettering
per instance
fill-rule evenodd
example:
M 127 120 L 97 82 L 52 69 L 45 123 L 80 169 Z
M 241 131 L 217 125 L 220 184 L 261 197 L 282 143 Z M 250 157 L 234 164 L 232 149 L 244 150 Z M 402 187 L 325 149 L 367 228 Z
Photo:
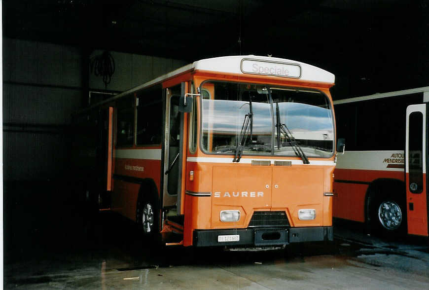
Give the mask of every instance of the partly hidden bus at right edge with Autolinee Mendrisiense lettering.
M 383 234 L 428 236 L 429 87 L 334 101 L 338 155 L 334 217 Z

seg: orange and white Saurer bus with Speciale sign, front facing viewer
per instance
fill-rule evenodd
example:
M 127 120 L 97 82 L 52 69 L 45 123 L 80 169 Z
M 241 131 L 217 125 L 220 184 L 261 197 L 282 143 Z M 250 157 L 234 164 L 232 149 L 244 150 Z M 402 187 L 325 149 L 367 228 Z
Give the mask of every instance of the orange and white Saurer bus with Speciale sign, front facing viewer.
M 179 235 L 167 245 L 332 240 L 333 85 L 287 59 L 196 61 L 80 112 L 101 130 L 87 144 L 104 144 L 80 155 L 105 156 L 90 168 L 110 209 L 148 236 Z

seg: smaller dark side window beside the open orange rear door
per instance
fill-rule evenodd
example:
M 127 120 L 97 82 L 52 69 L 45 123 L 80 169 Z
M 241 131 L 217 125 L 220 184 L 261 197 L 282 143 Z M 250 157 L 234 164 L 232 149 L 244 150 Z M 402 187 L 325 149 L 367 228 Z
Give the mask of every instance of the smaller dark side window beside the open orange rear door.
M 117 103 L 116 145 L 131 146 L 134 141 L 134 96 Z

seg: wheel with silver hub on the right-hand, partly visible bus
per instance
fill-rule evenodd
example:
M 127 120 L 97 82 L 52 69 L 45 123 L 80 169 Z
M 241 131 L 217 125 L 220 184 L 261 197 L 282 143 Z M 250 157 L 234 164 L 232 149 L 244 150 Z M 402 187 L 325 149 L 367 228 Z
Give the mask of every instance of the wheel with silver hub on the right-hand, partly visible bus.
M 403 202 L 394 197 L 375 200 L 371 207 L 373 229 L 387 237 L 402 236 L 407 228 L 407 209 Z

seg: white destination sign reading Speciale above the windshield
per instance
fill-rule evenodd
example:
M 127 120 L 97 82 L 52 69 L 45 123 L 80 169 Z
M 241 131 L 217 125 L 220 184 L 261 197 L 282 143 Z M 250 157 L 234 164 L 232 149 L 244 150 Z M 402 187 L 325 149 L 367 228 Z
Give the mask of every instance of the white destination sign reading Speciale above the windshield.
M 299 78 L 301 67 L 294 64 L 276 63 L 269 61 L 259 61 L 244 59 L 241 62 L 241 71 L 244 73 L 264 74 L 284 77 Z

